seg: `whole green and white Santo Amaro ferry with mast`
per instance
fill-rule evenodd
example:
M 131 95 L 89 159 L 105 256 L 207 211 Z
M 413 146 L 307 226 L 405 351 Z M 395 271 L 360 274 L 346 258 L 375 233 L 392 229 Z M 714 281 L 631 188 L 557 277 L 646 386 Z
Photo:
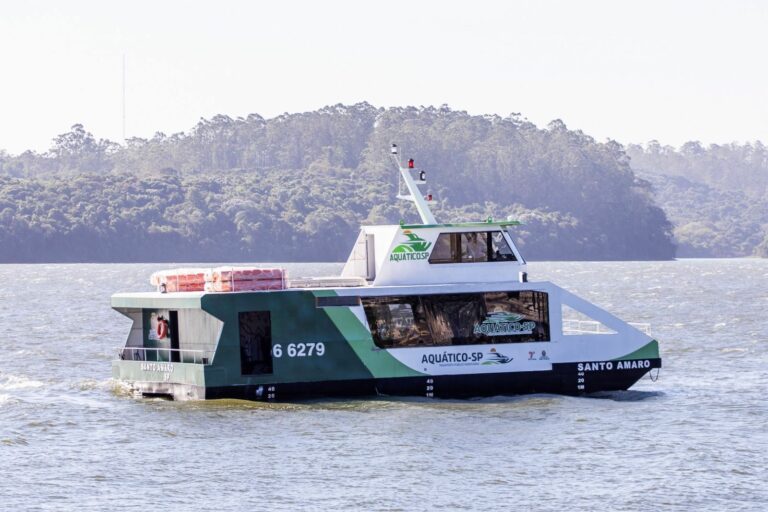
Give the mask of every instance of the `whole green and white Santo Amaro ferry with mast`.
M 527 279 L 519 224 L 440 224 L 425 173 L 402 165 L 421 224 L 363 226 L 340 276 L 191 269 L 119 293 L 133 321 L 116 379 L 175 400 L 581 395 L 661 367 L 647 326 Z

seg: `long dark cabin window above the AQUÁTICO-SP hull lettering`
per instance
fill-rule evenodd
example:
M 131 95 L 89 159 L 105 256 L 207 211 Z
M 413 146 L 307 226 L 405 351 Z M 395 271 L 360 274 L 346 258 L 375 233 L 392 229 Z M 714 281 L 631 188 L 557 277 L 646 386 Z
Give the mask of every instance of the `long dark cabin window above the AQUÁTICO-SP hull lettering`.
M 380 348 L 549 341 L 544 292 L 364 297 L 362 302 Z

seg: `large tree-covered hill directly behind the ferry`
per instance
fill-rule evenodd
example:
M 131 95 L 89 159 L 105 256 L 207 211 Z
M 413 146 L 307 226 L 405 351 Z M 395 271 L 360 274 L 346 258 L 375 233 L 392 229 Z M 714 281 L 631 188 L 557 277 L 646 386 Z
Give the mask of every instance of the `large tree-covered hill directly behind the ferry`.
M 427 171 L 440 221 L 519 219 L 528 259 L 674 256 L 617 143 L 560 121 L 362 103 L 125 145 L 75 125 L 44 154 L 0 152 L 0 261 L 340 261 L 361 223 L 418 219 L 395 199 L 392 142 Z

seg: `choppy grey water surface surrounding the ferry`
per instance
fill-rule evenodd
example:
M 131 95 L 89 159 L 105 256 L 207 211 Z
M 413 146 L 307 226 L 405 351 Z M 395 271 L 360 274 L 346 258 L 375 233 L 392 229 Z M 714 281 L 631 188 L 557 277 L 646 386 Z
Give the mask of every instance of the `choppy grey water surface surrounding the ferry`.
M 0 266 L 3 509 L 768 509 L 768 261 L 530 265 L 653 325 L 660 379 L 628 392 L 278 405 L 110 380 L 109 297 L 157 268 Z

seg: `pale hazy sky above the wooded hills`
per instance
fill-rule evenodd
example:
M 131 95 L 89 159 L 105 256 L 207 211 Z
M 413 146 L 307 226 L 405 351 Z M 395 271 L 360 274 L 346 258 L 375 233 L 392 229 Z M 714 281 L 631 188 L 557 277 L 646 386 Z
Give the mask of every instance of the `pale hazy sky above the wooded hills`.
M 335 103 L 560 118 L 598 140 L 768 142 L 768 2 L 7 2 L 0 148 Z

